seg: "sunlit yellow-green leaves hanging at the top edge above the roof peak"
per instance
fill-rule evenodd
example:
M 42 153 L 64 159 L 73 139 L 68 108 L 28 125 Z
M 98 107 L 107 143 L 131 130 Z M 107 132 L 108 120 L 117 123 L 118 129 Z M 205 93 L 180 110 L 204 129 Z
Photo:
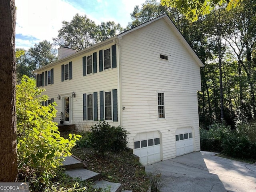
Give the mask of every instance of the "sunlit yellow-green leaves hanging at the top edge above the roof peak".
M 227 10 L 236 7 L 241 0 L 161 0 L 163 6 L 175 7 L 191 21 L 209 14 L 215 7 L 227 4 Z

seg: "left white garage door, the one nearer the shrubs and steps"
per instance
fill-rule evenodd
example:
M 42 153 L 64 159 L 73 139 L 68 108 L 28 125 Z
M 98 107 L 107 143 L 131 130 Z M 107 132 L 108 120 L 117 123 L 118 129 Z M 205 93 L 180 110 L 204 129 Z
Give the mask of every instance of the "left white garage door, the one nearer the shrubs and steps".
M 140 157 L 143 165 L 161 160 L 159 132 L 138 133 L 134 138 L 134 154 Z

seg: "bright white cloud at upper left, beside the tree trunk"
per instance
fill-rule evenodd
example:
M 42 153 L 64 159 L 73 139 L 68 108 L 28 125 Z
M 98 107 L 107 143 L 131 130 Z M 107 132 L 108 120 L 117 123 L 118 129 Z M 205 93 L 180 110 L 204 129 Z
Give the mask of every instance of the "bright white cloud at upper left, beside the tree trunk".
M 16 0 L 16 7 L 16 34 L 33 36 L 38 39 L 37 42 L 52 42 L 52 38 L 58 36 L 63 20 L 70 21 L 76 13 L 84 14 L 62 0 Z M 17 39 L 17 47 L 19 43 Z

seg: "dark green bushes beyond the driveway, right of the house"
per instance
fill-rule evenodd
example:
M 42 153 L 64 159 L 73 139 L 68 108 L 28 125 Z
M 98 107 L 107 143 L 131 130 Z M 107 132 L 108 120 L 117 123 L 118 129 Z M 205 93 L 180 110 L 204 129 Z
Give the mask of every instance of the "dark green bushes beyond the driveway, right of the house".
M 230 157 L 256 159 L 256 124 L 240 124 L 231 130 L 213 124 L 209 130 L 200 129 L 201 150 L 218 151 Z

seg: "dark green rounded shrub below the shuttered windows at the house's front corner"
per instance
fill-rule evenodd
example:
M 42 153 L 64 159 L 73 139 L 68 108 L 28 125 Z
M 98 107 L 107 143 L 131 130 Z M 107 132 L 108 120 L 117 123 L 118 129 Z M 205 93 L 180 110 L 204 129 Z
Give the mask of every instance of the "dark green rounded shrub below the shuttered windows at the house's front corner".
M 121 126 L 115 127 L 106 121 L 98 121 L 90 130 L 92 147 L 102 155 L 106 151 L 120 151 L 126 147 L 128 132 Z

